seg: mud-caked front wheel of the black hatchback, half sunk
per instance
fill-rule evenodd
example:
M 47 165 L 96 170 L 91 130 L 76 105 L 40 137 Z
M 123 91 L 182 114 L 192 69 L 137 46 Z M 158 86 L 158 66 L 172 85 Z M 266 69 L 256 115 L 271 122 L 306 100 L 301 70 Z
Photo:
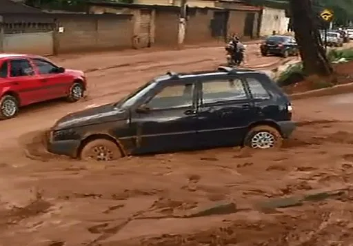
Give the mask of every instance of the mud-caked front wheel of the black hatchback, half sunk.
M 107 139 L 96 139 L 83 146 L 80 156 L 83 161 L 114 161 L 122 157 L 119 146 Z

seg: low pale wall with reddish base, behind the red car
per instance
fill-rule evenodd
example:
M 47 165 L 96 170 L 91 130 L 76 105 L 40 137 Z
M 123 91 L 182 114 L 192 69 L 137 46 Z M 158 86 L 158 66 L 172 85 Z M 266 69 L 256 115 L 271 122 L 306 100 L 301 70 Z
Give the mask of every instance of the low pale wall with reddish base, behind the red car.
M 3 34 L 3 52 L 19 54 L 53 54 L 52 32 Z

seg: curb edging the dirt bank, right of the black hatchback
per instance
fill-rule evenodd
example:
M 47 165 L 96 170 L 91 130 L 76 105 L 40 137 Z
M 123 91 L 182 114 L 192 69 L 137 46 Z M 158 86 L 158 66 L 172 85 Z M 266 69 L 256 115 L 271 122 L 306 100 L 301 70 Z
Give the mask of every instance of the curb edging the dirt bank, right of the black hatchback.
M 343 85 L 334 85 L 330 88 L 323 88 L 318 90 L 310 90 L 307 92 L 300 92 L 289 94 L 288 96 L 292 100 L 307 99 L 310 97 L 320 97 L 320 96 L 333 96 L 337 94 L 346 94 L 353 92 L 353 82 L 346 83 Z

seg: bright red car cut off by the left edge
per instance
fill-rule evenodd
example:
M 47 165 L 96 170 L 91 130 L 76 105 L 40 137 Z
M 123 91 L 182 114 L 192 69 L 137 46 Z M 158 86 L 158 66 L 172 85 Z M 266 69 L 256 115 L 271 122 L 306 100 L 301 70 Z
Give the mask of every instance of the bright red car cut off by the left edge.
M 19 107 L 65 97 L 79 101 L 86 90 L 85 74 L 61 68 L 48 59 L 25 54 L 0 54 L 0 119 Z

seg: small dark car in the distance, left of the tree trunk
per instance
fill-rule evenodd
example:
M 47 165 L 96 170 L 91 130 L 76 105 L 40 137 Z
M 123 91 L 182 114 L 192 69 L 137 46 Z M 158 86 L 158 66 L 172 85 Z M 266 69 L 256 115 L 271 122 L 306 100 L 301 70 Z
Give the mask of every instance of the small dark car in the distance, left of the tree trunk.
M 269 54 L 281 55 L 282 57 L 296 56 L 299 54 L 298 45 L 294 37 L 290 36 L 269 36 L 260 45 L 261 54 L 263 57 Z

